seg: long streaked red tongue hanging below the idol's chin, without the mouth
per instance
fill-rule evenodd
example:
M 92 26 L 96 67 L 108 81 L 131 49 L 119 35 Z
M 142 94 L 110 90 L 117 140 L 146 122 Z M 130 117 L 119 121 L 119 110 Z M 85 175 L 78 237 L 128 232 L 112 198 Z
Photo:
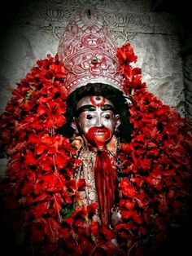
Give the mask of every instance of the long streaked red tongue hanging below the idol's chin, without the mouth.
M 112 168 L 106 151 L 98 151 L 94 166 L 95 186 L 103 225 L 111 222 L 111 209 L 115 205 L 116 170 Z

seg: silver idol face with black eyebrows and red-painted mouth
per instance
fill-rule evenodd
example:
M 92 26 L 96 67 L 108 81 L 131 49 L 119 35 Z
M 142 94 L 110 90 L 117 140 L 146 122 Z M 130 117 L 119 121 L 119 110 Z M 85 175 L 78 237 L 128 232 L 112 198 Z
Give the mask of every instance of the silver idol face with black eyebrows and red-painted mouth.
M 88 143 L 101 150 L 105 148 L 120 124 L 111 101 L 103 96 L 85 96 L 78 102 L 76 111 L 78 124 Z

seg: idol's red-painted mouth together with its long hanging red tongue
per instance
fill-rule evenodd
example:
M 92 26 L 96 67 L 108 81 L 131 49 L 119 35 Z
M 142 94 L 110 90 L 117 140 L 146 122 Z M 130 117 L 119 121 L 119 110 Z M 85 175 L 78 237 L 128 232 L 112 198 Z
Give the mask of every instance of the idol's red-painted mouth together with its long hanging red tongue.
M 107 142 L 111 139 L 111 131 L 106 127 L 92 127 L 89 129 L 86 139 L 98 148 L 94 166 L 95 187 L 98 193 L 101 221 L 103 225 L 108 226 L 111 222 L 111 209 L 115 205 L 116 192 L 116 170 L 111 166 L 108 153 L 104 150 Z

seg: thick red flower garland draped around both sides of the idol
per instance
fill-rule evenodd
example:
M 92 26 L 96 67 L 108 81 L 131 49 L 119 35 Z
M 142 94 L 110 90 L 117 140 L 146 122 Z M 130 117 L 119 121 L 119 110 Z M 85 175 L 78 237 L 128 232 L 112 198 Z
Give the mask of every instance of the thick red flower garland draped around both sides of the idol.
M 122 221 L 114 230 L 91 222 L 97 205 L 82 205 L 85 182 L 73 179 L 80 161 L 69 140 L 55 133 L 66 121 L 68 97 L 58 55 L 37 61 L 2 113 L 0 144 L 9 156 L 2 219 L 24 233 L 20 243 L 38 254 L 142 255 L 145 244 L 166 239 L 169 227 L 188 219 L 190 126 L 145 89 L 141 69 L 130 66 L 137 60 L 130 44 L 118 49 L 117 57 L 124 90 L 132 95 L 134 130 L 131 143 L 118 153 Z

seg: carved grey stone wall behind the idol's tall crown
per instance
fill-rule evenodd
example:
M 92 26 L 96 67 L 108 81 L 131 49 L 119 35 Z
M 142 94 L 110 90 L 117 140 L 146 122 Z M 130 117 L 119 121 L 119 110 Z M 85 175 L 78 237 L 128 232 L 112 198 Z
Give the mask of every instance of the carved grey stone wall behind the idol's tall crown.
M 25 2 L 10 20 L 10 30 L 3 35 L 7 44 L 1 49 L 4 59 L 0 82 L 1 95 L 7 97 L 3 96 L 1 112 L 10 97 L 7 85 L 15 87 L 38 59 L 46 58 L 47 54 L 55 55 L 68 21 L 79 8 L 93 5 L 103 15 L 119 46 L 131 42 L 138 56 L 136 65 L 142 68 L 142 80 L 148 89 L 164 104 L 177 108 L 184 115 L 185 97 L 177 38 L 180 24 L 172 15 L 151 12 L 149 0 Z

